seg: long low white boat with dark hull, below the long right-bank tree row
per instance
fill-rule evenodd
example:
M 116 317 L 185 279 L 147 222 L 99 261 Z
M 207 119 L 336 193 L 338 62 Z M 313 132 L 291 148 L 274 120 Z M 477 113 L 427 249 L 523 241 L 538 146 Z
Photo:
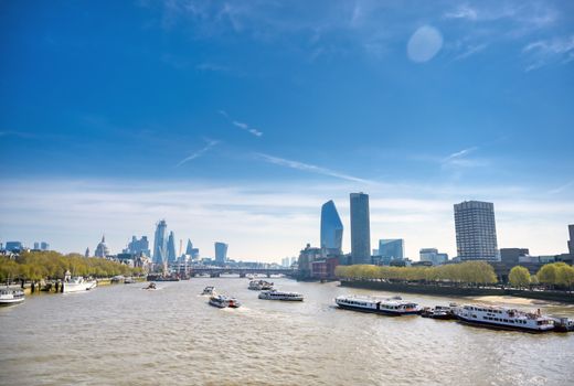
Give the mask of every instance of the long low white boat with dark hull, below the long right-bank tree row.
M 337 305 L 346 310 L 373 312 L 400 317 L 421 313 L 418 304 L 402 299 L 381 299 L 364 296 L 340 296 L 334 299 Z

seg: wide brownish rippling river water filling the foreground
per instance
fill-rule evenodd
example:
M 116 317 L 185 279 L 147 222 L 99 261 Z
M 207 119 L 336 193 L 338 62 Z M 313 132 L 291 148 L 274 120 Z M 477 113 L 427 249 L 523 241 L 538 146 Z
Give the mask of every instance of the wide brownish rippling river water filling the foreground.
M 0 309 L 3 385 L 572 385 L 574 333 L 492 331 L 339 310 L 344 293 L 273 278 L 302 303 L 257 299 L 240 278 L 30 296 Z M 205 286 L 235 296 L 216 309 Z M 421 305 L 461 299 L 403 294 Z M 574 317 L 573 307 L 541 308 Z

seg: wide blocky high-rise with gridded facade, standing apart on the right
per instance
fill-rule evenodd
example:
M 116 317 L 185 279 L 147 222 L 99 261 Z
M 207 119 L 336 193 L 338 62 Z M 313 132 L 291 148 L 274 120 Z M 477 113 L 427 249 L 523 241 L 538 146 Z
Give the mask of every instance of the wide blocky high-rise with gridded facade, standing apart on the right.
M 495 204 L 465 201 L 455 204 L 456 247 L 461 260 L 497 260 Z

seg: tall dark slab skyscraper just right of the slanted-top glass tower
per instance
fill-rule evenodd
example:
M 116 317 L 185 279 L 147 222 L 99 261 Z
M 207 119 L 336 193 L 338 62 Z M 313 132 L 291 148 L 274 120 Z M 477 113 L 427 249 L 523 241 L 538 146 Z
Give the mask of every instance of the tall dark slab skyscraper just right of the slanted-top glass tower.
M 369 195 L 351 193 L 351 256 L 353 264 L 371 264 Z

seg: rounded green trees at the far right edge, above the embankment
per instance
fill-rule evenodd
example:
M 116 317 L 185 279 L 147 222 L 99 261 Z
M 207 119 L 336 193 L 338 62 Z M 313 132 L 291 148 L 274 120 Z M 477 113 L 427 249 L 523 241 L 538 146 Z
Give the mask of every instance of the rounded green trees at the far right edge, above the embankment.
M 530 275 L 527 268 L 515 266 L 510 270 L 508 280 L 519 288 L 542 283 L 570 289 L 574 286 L 574 267 L 565 262 L 552 262 L 542 266 L 536 275 Z

